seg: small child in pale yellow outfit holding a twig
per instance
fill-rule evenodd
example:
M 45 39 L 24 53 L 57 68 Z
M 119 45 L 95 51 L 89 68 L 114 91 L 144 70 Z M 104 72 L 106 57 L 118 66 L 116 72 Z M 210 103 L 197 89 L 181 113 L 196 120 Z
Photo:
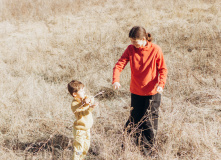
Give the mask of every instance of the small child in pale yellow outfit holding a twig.
M 75 114 L 73 125 L 74 154 L 73 160 L 82 160 L 90 147 L 90 128 L 93 125 L 92 111 L 97 104 L 94 98 L 85 95 L 85 87 L 79 81 L 73 80 L 68 83 L 68 91 L 74 97 L 71 109 Z

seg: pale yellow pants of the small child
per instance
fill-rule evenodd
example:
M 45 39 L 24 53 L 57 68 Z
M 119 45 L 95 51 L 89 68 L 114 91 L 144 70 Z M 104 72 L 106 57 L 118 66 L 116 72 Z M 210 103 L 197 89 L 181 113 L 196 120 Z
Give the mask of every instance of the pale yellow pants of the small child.
M 73 129 L 73 134 L 73 160 L 82 160 L 87 155 L 90 147 L 90 129 L 86 131 Z

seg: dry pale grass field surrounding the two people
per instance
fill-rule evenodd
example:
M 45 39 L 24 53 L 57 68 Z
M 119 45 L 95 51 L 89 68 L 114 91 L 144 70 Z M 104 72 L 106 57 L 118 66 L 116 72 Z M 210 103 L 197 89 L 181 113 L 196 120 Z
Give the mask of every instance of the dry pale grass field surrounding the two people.
M 67 83 L 96 101 L 86 160 L 218 160 L 221 157 L 220 0 L 0 0 L 0 159 L 69 160 L 74 115 Z M 112 90 L 112 68 L 142 25 L 163 52 L 168 79 L 157 157 L 128 142 L 130 68 Z

